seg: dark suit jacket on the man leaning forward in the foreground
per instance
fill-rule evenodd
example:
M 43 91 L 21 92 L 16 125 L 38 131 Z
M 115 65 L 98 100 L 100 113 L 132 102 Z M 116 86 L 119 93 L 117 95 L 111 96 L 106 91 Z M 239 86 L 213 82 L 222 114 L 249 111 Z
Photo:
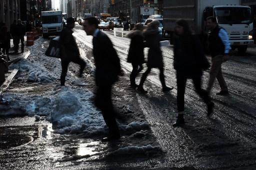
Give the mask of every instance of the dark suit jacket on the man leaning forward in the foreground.
M 112 85 L 120 74 L 120 60 L 108 36 L 99 31 L 92 40 L 97 86 Z

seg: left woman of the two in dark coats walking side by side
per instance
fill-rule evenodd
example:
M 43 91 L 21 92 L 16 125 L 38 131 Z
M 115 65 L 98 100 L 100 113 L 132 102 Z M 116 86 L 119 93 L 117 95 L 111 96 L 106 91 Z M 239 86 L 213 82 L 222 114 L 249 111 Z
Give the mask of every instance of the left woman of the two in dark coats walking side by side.
M 135 79 L 137 74 L 143 69 L 144 61 L 144 42 L 142 35 L 143 24 L 137 23 L 127 37 L 131 39 L 127 62 L 131 63 L 132 71 L 130 74 L 130 87 L 136 88 Z

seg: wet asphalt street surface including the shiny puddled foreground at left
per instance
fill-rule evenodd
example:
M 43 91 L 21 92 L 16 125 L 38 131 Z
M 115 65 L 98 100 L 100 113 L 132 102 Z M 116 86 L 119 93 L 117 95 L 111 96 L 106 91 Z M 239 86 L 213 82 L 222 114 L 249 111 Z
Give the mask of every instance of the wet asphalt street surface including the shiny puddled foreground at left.
M 73 31 L 81 56 L 87 57 L 93 67 L 92 37 L 86 36 L 79 25 L 76 25 Z M 104 32 L 112 40 L 125 72 L 124 77 L 128 80 L 131 65 L 126 62 L 129 46 L 129 39 L 125 37 L 126 32 L 120 31 L 119 28 L 117 31 Z M 40 46 L 41 44 L 38 44 L 38 47 Z M 147 49 L 145 54 L 146 51 Z M 185 94 L 187 123 L 180 128 L 171 126 L 176 119 L 173 52 L 171 47 L 163 47 L 162 51 L 166 84 L 173 86 L 174 89 L 170 93 L 162 93 L 158 70 L 153 69 L 144 84 L 149 93 L 130 95 L 136 97 L 138 107 L 142 109 L 153 135 L 165 152 L 163 157 L 142 158 L 136 161 L 133 159 L 129 161 L 127 158 L 116 162 L 100 161 L 97 160 L 97 153 L 104 153 L 106 148 L 112 147 L 111 144 L 84 139 L 79 135 L 59 135 L 53 132 L 54 126 L 51 123 L 35 122 L 33 117 L 1 117 L 0 134 L 9 136 L 1 136 L 0 170 L 256 170 L 256 49 L 249 48 L 245 56 L 238 56 L 234 51 L 230 60 L 223 64 L 224 78 L 231 95 L 228 97 L 214 95 L 219 91 L 218 84 L 215 83 L 212 98 L 216 107 L 211 118 L 205 116 L 206 107 L 193 91 L 191 81 L 187 81 Z M 55 63 L 50 64 L 53 66 Z M 204 88 L 207 78 L 208 72 L 205 72 Z M 32 91 L 37 91 L 36 89 L 47 91 L 52 88 L 51 84 L 34 86 Z M 8 141 L 9 139 L 16 141 L 14 143 Z M 9 149 L 2 152 L 3 148 Z M 87 154 L 91 157 L 87 158 Z

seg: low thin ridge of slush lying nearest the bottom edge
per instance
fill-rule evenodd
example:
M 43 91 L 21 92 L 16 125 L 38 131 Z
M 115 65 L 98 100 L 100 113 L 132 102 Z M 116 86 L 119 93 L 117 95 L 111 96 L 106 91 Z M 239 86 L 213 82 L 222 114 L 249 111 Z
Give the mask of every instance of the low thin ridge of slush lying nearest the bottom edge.
M 122 156 L 122 155 L 143 155 L 143 156 L 159 156 L 162 154 L 162 150 L 160 146 L 154 146 L 151 145 L 142 146 L 142 147 L 136 147 L 136 146 L 127 146 L 124 148 L 119 148 L 113 152 L 110 152 L 106 155 L 106 157 L 109 156 Z

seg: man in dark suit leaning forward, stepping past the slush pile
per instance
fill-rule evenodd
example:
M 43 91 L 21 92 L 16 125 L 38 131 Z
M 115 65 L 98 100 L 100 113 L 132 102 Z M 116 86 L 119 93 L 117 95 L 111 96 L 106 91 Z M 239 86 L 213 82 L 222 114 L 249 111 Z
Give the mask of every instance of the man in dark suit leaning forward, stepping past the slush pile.
M 111 88 L 121 74 L 120 60 L 112 42 L 106 34 L 98 29 L 98 20 L 95 17 L 84 19 L 83 29 L 87 35 L 92 35 L 93 56 L 95 61 L 95 82 L 97 86 L 95 106 L 101 110 L 108 127 L 109 135 L 102 141 L 111 141 L 120 138 L 115 121 L 114 109 L 111 101 Z

